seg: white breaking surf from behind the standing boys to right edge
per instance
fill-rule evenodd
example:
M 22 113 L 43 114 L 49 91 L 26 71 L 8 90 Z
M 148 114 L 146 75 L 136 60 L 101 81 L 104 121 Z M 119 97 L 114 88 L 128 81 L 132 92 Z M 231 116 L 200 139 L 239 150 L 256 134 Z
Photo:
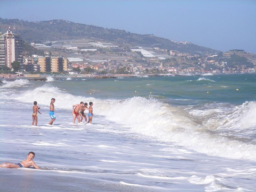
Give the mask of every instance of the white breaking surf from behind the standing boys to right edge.
M 197 152 L 213 156 L 256 160 L 255 145 L 248 145 L 242 141 L 210 132 L 208 125 L 204 123 L 204 121 L 207 121 L 207 115 L 202 120 L 202 116 L 198 117 L 200 114 L 190 114 L 182 108 L 172 107 L 153 98 L 132 97 L 121 101 L 114 99 L 100 100 L 92 97 L 75 96 L 61 91 L 57 87 L 46 85 L 34 89 L 33 92 L 27 91 L 13 97 L 13 99 L 21 102 L 32 103 L 36 100 L 38 105 L 49 105 L 51 98 L 56 99 L 54 103 L 56 108 L 70 110 L 72 105 L 80 101 L 87 103 L 92 101 L 94 103 L 94 114 L 124 124 L 130 127 L 132 132 L 146 135 L 152 139 L 174 142 Z M 239 125 L 249 122 L 248 126 L 254 126 L 255 118 L 253 119 L 253 114 L 255 114 L 255 110 L 256 102 L 247 102 L 229 114 L 228 119 L 233 119 Z M 239 116 L 241 112 L 242 115 Z M 221 121 L 223 119 L 223 116 L 218 116 L 217 120 Z M 232 125 L 233 120 L 229 120 L 230 123 L 225 124 Z

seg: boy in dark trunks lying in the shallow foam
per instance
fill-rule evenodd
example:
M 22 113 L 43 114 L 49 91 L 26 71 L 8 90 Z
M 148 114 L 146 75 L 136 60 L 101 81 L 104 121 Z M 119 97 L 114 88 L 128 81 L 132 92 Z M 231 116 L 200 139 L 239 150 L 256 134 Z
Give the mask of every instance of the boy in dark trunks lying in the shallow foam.
M 1 168 L 28 168 L 30 166 L 33 166 L 35 169 L 40 169 L 34 161 L 32 161 L 35 157 L 35 153 L 30 151 L 27 155 L 27 159 L 24 159 L 21 163 L 13 164 L 13 163 L 3 163 L 0 164 Z

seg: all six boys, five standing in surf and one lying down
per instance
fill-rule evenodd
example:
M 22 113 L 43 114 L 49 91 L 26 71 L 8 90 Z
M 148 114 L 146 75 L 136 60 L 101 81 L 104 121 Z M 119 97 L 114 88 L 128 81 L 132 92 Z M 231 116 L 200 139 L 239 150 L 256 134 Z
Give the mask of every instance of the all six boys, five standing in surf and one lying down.
M 50 111 L 49 111 L 49 115 L 51 117 L 51 121 L 48 123 L 50 125 L 52 125 L 53 121 L 55 121 L 56 117 L 54 115 L 54 102 L 55 102 L 55 99 L 52 98 L 51 99 L 51 103 L 50 103 Z M 84 120 L 85 122 L 87 121 L 87 118 L 84 114 L 84 110 L 87 109 L 89 110 L 89 113 L 88 113 L 88 122 L 87 123 L 92 123 L 92 116 L 93 116 L 93 113 L 92 113 L 92 106 L 93 106 L 93 103 L 92 102 L 89 102 L 89 108 L 87 108 L 87 103 L 84 103 L 83 101 L 80 102 L 80 104 L 76 104 L 76 105 L 73 105 L 72 107 L 72 116 L 73 116 L 73 123 L 75 123 L 76 119 L 78 121 L 78 123 L 82 122 L 83 120 L 83 117 L 84 117 Z M 33 113 L 32 113 L 32 125 L 35 125 L 37 126 L 37 112 L 39 112 L 39 109 L 40 107 L 37 106 L 37 102 L 34 101 L 34 106 L 33 106 Z M 41 113 L 40 113 L 41 114 Z M 80 119 L 81 117 L 81 119 Z M 1 168 L 29 168 L 30 166 L 33 166 L 35 169 L 40 169 L 34 161 L 32 161 L 35 157 L 35 153 L 33 151 L 30 151 L 27 155 L 27 159 L 24 159 L 22 162 L 20 163 L 17 163 L 17 164 L 14 164 L 14 163 L 3 163 L 3 164 L 0 164 L 0 167 Z

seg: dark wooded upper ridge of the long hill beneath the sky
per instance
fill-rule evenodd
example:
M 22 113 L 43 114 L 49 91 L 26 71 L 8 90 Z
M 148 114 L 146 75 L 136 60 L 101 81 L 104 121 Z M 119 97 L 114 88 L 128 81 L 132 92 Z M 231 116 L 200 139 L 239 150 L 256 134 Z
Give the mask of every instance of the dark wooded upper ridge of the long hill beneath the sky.
M 98 38 L 118 44 L 131 44 L 160 49 L 177 50 L 201 56 L 220 52 L 195 44 L 178 44 L 169 39 L 154 35 L 141 35 L 119 29 L 108 29 L 93 25 L 74 23 L 66 20 L 28 22 L 19 19 L 0 18 L 0 31 L 6 32 L 8 26 L 15 26 L 14 33 L 27 42 L 56 41 L 64 39 Z

